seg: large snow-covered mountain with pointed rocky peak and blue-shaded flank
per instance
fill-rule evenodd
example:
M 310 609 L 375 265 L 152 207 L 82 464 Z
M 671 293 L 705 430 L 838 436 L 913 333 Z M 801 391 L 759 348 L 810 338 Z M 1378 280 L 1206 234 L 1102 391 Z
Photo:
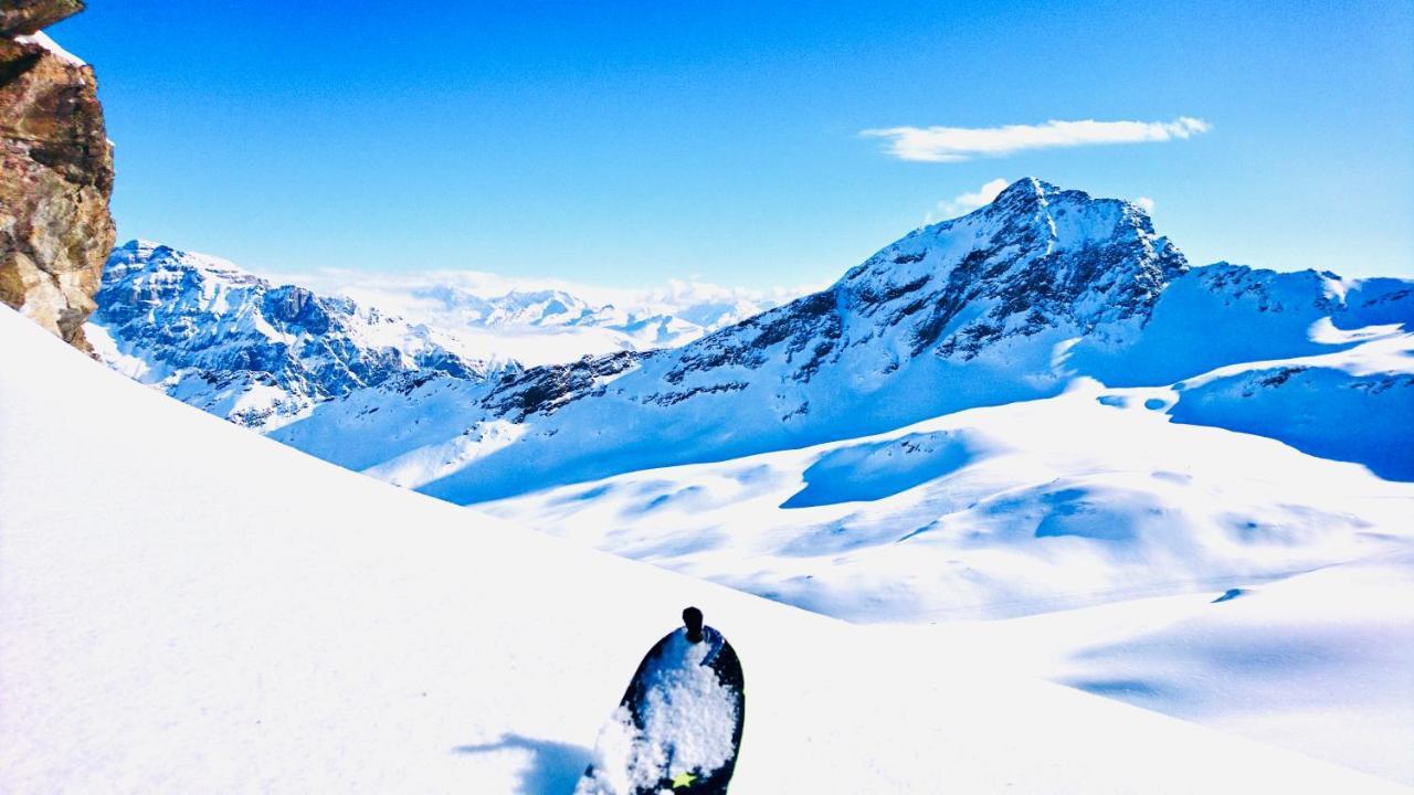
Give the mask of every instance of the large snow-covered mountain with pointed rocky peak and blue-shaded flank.
M 1178 422 L 1408 480 L 1411 287 L 1189 267 L 1143 208 L 1028 178 L 824 291 L 686 347 L 530 368 L 437 403 L 436 419 L 420 392 L 441 386 L 375 388 L 274 436 L 469 504 L 855 439 L 1093 378 L 1167 389 Z M 424 422 L 444 439 L 403 434 L 379 454 L 390 429 Z

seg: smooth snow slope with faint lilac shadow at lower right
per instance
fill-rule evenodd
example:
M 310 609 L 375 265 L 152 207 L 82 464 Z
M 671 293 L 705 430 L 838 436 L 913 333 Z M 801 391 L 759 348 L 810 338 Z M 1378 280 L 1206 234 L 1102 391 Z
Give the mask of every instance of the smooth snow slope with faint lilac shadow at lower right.
M 1414 555 L 947 627 L 1018 673 L 1414 782 Z

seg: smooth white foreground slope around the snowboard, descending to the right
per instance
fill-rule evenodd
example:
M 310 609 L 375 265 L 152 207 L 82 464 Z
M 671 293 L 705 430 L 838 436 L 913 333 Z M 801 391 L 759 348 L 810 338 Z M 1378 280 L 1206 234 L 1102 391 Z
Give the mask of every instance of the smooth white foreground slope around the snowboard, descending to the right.
M 567 792 L 684 603 L 747 669 L 735 795 L 1407 792 L 361 478 L 8 310 L 0 344 L 4 792 Z

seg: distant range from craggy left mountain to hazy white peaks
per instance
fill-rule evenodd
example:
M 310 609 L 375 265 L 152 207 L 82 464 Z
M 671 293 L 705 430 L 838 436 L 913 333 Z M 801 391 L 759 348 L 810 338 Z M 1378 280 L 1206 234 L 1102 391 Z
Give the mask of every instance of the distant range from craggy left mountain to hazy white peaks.
M 682 345 L 772 306 L 720 291 L 632 311 L 557 289 L 424 284 L 380 294 L 407 314 L 132 240 L 109 257 L 86 331 L 115 369 L 269 431 L 359 389 L 437 376 L 481 383 L 525 364 Z

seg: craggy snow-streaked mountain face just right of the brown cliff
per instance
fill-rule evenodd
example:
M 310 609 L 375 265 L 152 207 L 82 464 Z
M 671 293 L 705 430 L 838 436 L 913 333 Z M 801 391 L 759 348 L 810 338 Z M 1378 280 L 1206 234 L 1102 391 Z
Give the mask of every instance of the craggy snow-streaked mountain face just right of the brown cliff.
M 516 369 L 462 356 L 455 338 L 346 298 L 141 240 L 113 252 L 98 303 L 89 331 L 115 369 L 264 430 L 400 373 L 481 382 Z

